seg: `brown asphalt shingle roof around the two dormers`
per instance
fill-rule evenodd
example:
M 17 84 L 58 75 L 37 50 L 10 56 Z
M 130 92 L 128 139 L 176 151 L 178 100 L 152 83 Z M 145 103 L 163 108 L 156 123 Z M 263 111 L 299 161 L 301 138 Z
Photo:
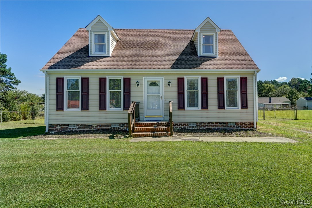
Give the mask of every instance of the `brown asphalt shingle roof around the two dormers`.
M 197 57 L 194 30 L 115 29 L 110 57 L 89 57 L 80 28 L 42 69 L 258 69 L 231 30 L 219 33 L 219 57 Z

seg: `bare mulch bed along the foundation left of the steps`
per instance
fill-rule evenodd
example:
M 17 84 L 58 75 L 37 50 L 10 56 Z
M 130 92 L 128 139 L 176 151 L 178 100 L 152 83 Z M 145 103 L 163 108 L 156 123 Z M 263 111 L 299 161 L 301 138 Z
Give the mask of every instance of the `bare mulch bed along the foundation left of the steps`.
M 23 137 L 21 139 L 51 139 L 51 138 L 110 138 L 121 139 L 128 137 L 129 132 L 124 130 L 80 130 Z

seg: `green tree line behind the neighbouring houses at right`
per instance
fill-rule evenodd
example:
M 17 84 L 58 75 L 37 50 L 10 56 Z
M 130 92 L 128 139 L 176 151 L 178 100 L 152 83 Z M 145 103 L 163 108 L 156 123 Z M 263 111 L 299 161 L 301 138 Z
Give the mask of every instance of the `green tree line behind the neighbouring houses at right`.
M 296 100 L 300 97 L 311 96 L 312 78 L 303 80 L 293 77 L 289 82 L 258 81 L 258 97 L 286 97 L 290 100 L 291 105 L 295 105 Z

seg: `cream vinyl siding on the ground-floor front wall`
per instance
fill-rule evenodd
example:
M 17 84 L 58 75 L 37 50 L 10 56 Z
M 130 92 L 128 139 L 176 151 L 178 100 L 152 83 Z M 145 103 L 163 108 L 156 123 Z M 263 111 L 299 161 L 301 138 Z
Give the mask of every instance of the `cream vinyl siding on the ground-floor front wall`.
M 89 77 L 89 110 L 81 112 L 56 111 L 56 77 L 64 75 Z M 99 77 L 113 76 L 112 73 L 60 73 L 50 74 L 49 93 L 49 124 L 93 124 L 93 123 L 128 123 L 127 110 L 106 111 L 99 110 Z M 173 122 L 252 122 L 253 121 L 253 74 L 236 74 L 247 77 L 248 109 L 224 110 L 217 109 L 217 77 L 230 75 L 228 73 L 187 73 L 187 74 L 122 74 L 131 78 L 131 101 L 140 102 L 140 120 L 144 120 L 143 115 L 143 77 L 164 77 L 164 119 L 168 120 L 168 103 L 173 101 Z M 185 75 L 208 77 L 208 109 L 206 110 L 178 110 L 177 100 L 177 78 Z M 136 86 L 136 81 L 140 86 Z M 171 86 L 168 87 L 168 81 Z M 186 94 L 184 94 L 186 96 Z M 226 97 L 225 97 L 226 99 Z

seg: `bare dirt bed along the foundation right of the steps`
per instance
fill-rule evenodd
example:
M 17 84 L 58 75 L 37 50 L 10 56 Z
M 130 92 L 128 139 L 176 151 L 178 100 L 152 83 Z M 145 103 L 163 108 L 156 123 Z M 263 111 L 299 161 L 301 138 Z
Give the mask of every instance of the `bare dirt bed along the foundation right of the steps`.
M 271 133 L 259 132 L 256 130 L 242 129 L 173 129 L 173 134 L 176 136 L 237 136 L 237 137 L 274 137 Z

